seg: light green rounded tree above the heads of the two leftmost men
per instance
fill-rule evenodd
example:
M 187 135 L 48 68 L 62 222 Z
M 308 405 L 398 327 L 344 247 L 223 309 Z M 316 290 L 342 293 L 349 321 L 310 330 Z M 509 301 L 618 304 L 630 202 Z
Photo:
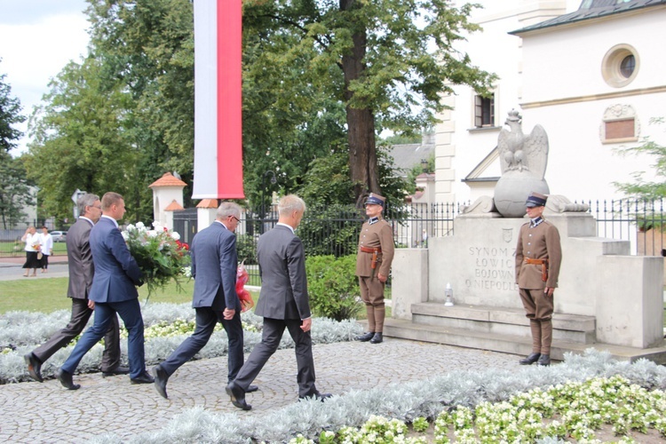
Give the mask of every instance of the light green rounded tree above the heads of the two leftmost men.
M 28 175 L 40 188 L 40 211 L 60 222 L 72 218 L 76 189 L 115 191 L 134 202 L 131 197 L 145 187 L 134 167 L 139 152 L 127 131 L 131 97 L 122 84 L 102 83 L 101 68 L 92 57 L 67 64 L 31 117 Z M 128 204 L 128 216 L 137 216 L 135 211 Z

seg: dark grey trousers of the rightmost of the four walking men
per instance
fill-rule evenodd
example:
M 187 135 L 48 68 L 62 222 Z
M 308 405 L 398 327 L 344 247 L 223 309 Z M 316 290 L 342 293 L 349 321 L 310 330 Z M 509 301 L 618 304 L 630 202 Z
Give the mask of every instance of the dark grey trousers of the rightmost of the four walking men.
M 264 318 L 261 342 L 255 345 L 248 361 L 242 366 L 234 380 L 234 383 L 242 390 L 248 390 L 252 381 L 264 368 L 266 361 L 273 356 L 278 345 L 280 345 L 285 328 L 289 330 L 289 335 L 296 344 L 298 396 L 311 396 L 317 391 L 314 386 L 313 340 L 310 332 L 301 329 L 300 320 L 271 318 Z

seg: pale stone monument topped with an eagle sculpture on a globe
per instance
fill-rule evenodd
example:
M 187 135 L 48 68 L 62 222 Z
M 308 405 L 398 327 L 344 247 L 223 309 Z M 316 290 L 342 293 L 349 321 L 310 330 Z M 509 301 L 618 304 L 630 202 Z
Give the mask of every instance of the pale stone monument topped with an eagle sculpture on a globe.
M 558 227 L 562 266 L 553 316 L 553 359 L 588 347 L 617 358 L 666 362 L 663 258 L 630 256 L 630 242 L 597 237 L 588 206 L 550 194 L 544 179 L 548 137 L 541 125 L 523 134 L 511 111 L 497 147 L 502 176 L 495 196 L 463 209 L 453 235 L 428 249 L 397 249 L 392 266 L 392 320 L 385 336 L 527 354 L 528 321 L 515 278 L 525 202 L 548 194 L 543 213 Z M 453 289 L 454 305 L 447 287 Z M 450 291 L 449 291 L 450 293 Z

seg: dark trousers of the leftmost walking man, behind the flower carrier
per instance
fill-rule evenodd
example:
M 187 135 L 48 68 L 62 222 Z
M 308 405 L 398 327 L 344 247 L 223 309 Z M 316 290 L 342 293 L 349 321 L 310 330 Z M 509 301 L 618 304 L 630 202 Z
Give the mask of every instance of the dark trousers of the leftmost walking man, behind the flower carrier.
M 40 362 L 52 357 L 62 347 L 69 344 L 72 339 L 79 336 L 88 320 L 92 310 L 88 308 L 88 299 L 72 298 L 72 316 L 64 329 L 59 330 L 43 345 L 33 350 L 33 354 Z M 102 371 L 115 369 L 120 365 L 120 336 L 118 317 L 112 316 L 111 323 L 104 334 L 104 353 L 102 354 Z

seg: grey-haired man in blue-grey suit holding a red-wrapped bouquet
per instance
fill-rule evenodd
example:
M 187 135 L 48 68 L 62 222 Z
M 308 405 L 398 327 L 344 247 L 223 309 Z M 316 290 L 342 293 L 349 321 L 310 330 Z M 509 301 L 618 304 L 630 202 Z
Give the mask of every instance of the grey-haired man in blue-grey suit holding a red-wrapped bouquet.
M 219 322 L 229 338 L 227 353 L 228 380 L 233 381 L 242 367 L 243 334 L 241 301 L 236 294 L 236 236 L 234 231 L 241 217 L 241 207 L 234 202 L 222 202 L 211 226 L 194 236 L 192 242 L 192 277 L 196 310 L 196 327 L 191 337 L 170 354 L 163 363 L 153 368 L 155 389 L 167 398 L 166 384 L 181 365 L 208 344 L 215 325 Z M 257 390 L 253 385 L 248 392 Z

